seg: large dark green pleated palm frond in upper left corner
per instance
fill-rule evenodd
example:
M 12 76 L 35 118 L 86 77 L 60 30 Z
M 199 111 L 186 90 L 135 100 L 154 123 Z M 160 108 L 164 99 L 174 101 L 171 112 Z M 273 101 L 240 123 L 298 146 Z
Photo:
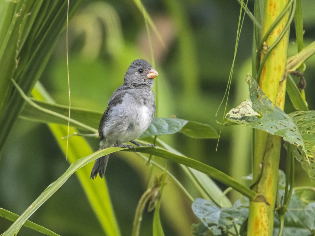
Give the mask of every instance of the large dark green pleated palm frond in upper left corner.
M 71 2 L 73 15 L 81 1 Z M 65 1 L 8 1 L 0 22 L 0 150 L 20 113 L 24 100 L 11 78 L 30 94 L 66 24 Z

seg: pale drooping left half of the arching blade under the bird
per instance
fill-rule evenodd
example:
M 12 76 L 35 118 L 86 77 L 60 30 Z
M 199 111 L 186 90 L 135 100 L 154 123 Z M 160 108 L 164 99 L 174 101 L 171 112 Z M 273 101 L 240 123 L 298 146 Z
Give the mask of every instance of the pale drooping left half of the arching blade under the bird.
M 22 215 L 9 227 L 7 231 L 3 233 L 3 236 L 12 236 L 19 232 L 22 225 L 26 220 L 43 205 L 77 170 L 87 165 L 88 163 L 100 158 L 104 155 L 123 150 L 123 148 L 107 148 L 101 151 L 95 152 L 91 155 L 85 156 L 79 160 L 73 162 L 69 168 L 53 183 L 51 183 L 42 194 L 22 213 Z

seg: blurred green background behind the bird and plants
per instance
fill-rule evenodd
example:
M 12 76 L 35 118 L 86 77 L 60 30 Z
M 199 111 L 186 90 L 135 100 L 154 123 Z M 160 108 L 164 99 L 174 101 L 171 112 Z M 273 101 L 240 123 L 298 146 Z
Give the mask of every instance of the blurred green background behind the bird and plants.
M 155 69 L 153 91 L 157 116 L 198 121 L 219 132 L 223 98 L 234 54 L 240 6 L 236 0 L 142 1 L 163 43 L 151 31 Z M 252 10 L 254 1 L 249 1 Z M 305 46 L 315 40 L 313 0 L 303 0 Z M 66 13 L 65 13 L 66 14 Z M 246 16 L 234 66 L 227 110 L 248 98 L 245 76 L 251 73 L 253 24 Z M 69 73 L 71 105 L 103 112 L 113 91 L 123 83 L 130 63 L 139 58 L 152 63 L 143 15 L 133 1 L 83 1 L 69 22 Z M 294 24 L 290 30 L 289 56 L 297 53 Z M 66 34 L 63 32 L 40 82 L 58 104 L 68 105 Z M 315 109 L 315 57 L 306 61 L 306 101 Z M 299 79 L 295 78 L 298 82 Z M 286 113 L 294 111 L 289 97 Z M 98 128 L 98 127 L 95 127 Z M 160 137 L 181 153 L 213 166 L 236 180 L 250 171 L 251 130 L 223 127 L 217 140 L 199 140 L 183 134 Z M 66 142 L 66 141 L 65 141 Z M 98 139 L 89 139 L 94 150 Z M 285 169 L 282 152 L 280 169 Z M 159 161 L 159 159 L 156 159 Z M 67 169 L 69 163 L 45 124 L 18 119 L 0 158 L 0 207 L 21 214 L 39 194 Z M 188 186 L 177 165 L 168 167 Z M 130 235 L 137 203 L 146 190 L 149 166 L 136 155 L 111 155 L 106 180 L 122 235 Z M 89 178 L 87 176 L 87 178 Z M 92 181 L 92 180 L 91 180 Z M 296 165 L 295 186 L 310 185 L 301 165 Z M 218 183 L 225 189 L 226 186 Z M 191 193 L 193 197 L 200 197 Z M 230 195 L 235 200 L 238 195 Z M 163 201 L 164 199 L 164 201 Z M 165 210 L 168 211 L 165 211 Z M 141 235 L 151 235 L 153 214 L 145 213 Z M 165 235 L 191 235 L 197 218 L 191 202 L 169 183 L 164 188 L 161 218 Z M 103 235 L 77 177 L 72 176 L 33 216 L 31 221 L 60 235 Z M 11 222 L 0 218 L 0 233 Z M 23 227 L 20 235 L 41 235 Z

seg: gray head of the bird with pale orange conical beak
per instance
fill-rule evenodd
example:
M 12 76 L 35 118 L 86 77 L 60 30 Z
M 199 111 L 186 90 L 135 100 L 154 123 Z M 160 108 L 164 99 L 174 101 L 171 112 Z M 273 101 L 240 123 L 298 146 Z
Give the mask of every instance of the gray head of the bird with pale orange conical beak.
M 153 85 L 153 79 L 158 76 L 158 73 L 155 69 L 152 68 L 150 63 L 144 59 L 138 59 L 131 63 L 129 66 L 125 79 L 125 85 L 134 85 L 134 86 L 150 86 Z

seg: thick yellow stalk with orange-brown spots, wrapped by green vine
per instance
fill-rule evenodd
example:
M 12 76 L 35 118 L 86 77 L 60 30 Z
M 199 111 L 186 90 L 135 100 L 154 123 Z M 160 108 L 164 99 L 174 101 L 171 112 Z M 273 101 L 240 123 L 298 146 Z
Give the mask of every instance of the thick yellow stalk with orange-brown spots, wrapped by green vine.
M 266 0 L 262 35 L 288 4 L 288 0 Z M 288 21 L 289 12 L 279 21 L 269 34 L 261 51 L 261 61 L 265 52 L 277 40 Z M 288 31 L 269 54 L 259 78 L 259 86 L 280 109 L 284 109 L 286 80 L 282 81 L 287 60 Z M 257 52 L 260 53 L 260 52 Z M 262 66 L 262 65 L 261 65 Z M 251 201 L 247 235 L 272 236 L 273 214 L 278 184 L 281 138 L 256 130 L 254 136 L 253 180 L 257 181 L 253 190 L 263 194 L 268 203 Z

